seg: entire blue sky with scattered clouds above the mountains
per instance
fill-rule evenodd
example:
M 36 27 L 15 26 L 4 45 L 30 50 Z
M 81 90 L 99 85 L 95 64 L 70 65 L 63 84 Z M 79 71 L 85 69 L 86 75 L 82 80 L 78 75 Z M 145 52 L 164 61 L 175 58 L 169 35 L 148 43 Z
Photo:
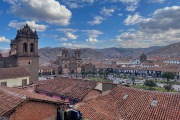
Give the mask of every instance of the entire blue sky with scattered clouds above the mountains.
M 179 0 L 1 0 L 0 49 L 28 24 L 39 48 L 145 48 L 180 42 Z

